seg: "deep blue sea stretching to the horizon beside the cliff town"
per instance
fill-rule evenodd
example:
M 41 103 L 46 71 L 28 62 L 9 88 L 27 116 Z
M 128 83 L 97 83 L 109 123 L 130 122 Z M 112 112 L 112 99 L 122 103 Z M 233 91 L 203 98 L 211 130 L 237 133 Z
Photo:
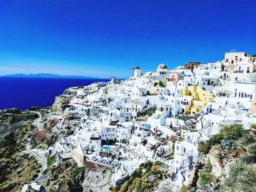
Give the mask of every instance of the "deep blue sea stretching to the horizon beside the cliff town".
M 27 110 L 29 107 L 50 107 L 55 96 L 66 88 L 85 86 L 102 79 L 60 79 L 0 77 L 0 110 L 16 107 Z

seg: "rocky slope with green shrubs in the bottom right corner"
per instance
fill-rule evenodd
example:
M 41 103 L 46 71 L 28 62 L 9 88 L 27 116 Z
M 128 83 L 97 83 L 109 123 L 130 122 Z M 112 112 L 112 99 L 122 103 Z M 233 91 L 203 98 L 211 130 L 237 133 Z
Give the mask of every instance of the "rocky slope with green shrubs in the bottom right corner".
M 197 170 L 197 185 L 183 186 L 181 191 L 256 191 L 256 131 L 255 125 L 244 130 L 241 124 L 224 126 L 205 142 L 200 142 L 202 168 Z M 211 161 L 213 155 L 222 174 L 214 176 Z M 204 163 L 206 161 L 206 163 Z M 216 174 L 216 173 L 215 173 Z

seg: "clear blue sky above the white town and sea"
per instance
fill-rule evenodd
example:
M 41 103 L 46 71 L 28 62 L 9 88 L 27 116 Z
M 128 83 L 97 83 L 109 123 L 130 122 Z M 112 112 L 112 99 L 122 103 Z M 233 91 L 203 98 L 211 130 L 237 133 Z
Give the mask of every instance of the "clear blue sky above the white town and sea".
M 255 0 L 1 0 L 0 74 L 129 77 L 256 53 Z

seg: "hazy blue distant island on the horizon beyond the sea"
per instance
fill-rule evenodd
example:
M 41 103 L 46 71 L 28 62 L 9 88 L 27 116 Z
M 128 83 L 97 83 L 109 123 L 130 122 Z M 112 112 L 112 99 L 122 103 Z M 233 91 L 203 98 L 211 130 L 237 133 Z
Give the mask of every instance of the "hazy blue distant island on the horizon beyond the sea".
M 99 79 L 99 77 L 59 75 L 59 74 L 4 74 L 0 77 L 34 77 L 34 78 L 67 78 L 67 79 Z

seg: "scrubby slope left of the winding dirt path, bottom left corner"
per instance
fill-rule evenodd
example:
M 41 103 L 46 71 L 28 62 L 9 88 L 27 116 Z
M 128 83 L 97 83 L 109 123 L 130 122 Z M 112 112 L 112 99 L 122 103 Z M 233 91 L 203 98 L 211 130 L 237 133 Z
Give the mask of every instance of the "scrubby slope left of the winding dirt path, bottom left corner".
M 28 124 L 0 138 L 0 191 L 18 191 L 25 183 L 38 177 L 41 165 L 25 150 L 26 134 L 34 126 Z

